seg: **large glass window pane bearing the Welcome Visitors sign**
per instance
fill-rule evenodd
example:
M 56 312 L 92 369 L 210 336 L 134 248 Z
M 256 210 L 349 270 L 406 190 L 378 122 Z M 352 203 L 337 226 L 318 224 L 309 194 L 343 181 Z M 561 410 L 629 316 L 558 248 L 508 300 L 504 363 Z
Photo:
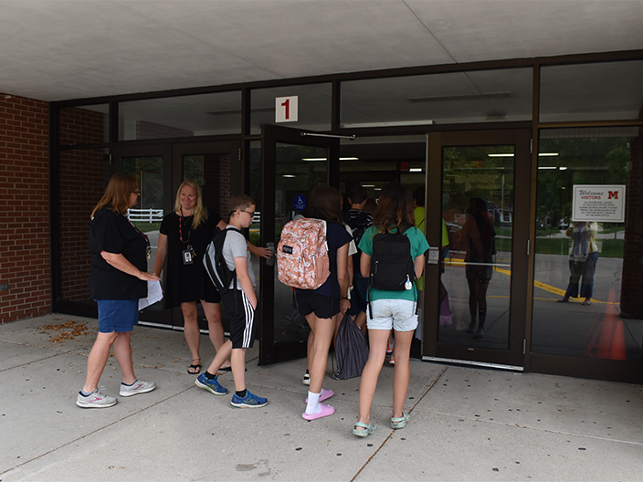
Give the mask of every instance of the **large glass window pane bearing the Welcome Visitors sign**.
M 640 361 L 641 139 L 638 128 L 541 131 L 533 352 Z M 625 194 L 622 222 L 603 207 Z

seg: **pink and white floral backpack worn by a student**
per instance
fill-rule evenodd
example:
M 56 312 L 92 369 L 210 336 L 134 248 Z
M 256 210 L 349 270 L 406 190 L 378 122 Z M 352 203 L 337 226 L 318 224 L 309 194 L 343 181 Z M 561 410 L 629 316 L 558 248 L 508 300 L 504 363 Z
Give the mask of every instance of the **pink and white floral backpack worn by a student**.
M 331 274 L 326 222 L 301 218 L 283 226 L 277 246 L 277 270 L 284 285 L 320 288 Z

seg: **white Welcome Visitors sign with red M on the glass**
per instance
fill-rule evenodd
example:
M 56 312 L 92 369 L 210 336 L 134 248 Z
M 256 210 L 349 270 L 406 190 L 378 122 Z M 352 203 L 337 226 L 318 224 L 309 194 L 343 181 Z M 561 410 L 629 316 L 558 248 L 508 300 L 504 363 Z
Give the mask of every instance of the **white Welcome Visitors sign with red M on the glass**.
M 625 222 L 625 185 L 574 184 L 572 221 Z

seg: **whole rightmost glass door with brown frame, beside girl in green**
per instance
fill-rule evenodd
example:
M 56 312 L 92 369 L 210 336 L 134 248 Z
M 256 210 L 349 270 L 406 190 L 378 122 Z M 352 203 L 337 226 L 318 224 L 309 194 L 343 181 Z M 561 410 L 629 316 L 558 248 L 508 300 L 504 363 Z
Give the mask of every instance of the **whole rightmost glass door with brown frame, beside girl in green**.
M 427 358 L 522 369 L 530 131 L 429 134 Z

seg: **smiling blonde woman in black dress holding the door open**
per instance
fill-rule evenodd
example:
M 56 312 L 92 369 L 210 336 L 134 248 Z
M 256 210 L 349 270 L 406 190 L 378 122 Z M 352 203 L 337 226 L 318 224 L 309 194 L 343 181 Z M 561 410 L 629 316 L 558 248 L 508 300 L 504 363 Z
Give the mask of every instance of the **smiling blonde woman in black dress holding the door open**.
M 174 212 L 163 217 L 159 234 L 158 250 L 154 259 L 154 273 L 161 276 L 165 260 L 165 309 L 181 307 L 184 317 L 184 335 L 192 352 L 192 364 L 187 368 L 191 374 L 201 372 L 199 343 L 201 331 L 198 325 L 196 301 L 201 302 L 206 314 L 210 341 L 219 351 L 226 341 L 221 324 L 221 297 L 215 285 L 207 277 L 203 264 L 206 247 L 216 234 L 216 229 L 226 229 L 227 223 L 216 213 L 203 206 L 201 189 L 187 179 L 176 192 Z M 250 252 L 257 257 L 270 257 L 267 248 L 248 243 Z M 230 371 L 227 361 L 221 368 Z

